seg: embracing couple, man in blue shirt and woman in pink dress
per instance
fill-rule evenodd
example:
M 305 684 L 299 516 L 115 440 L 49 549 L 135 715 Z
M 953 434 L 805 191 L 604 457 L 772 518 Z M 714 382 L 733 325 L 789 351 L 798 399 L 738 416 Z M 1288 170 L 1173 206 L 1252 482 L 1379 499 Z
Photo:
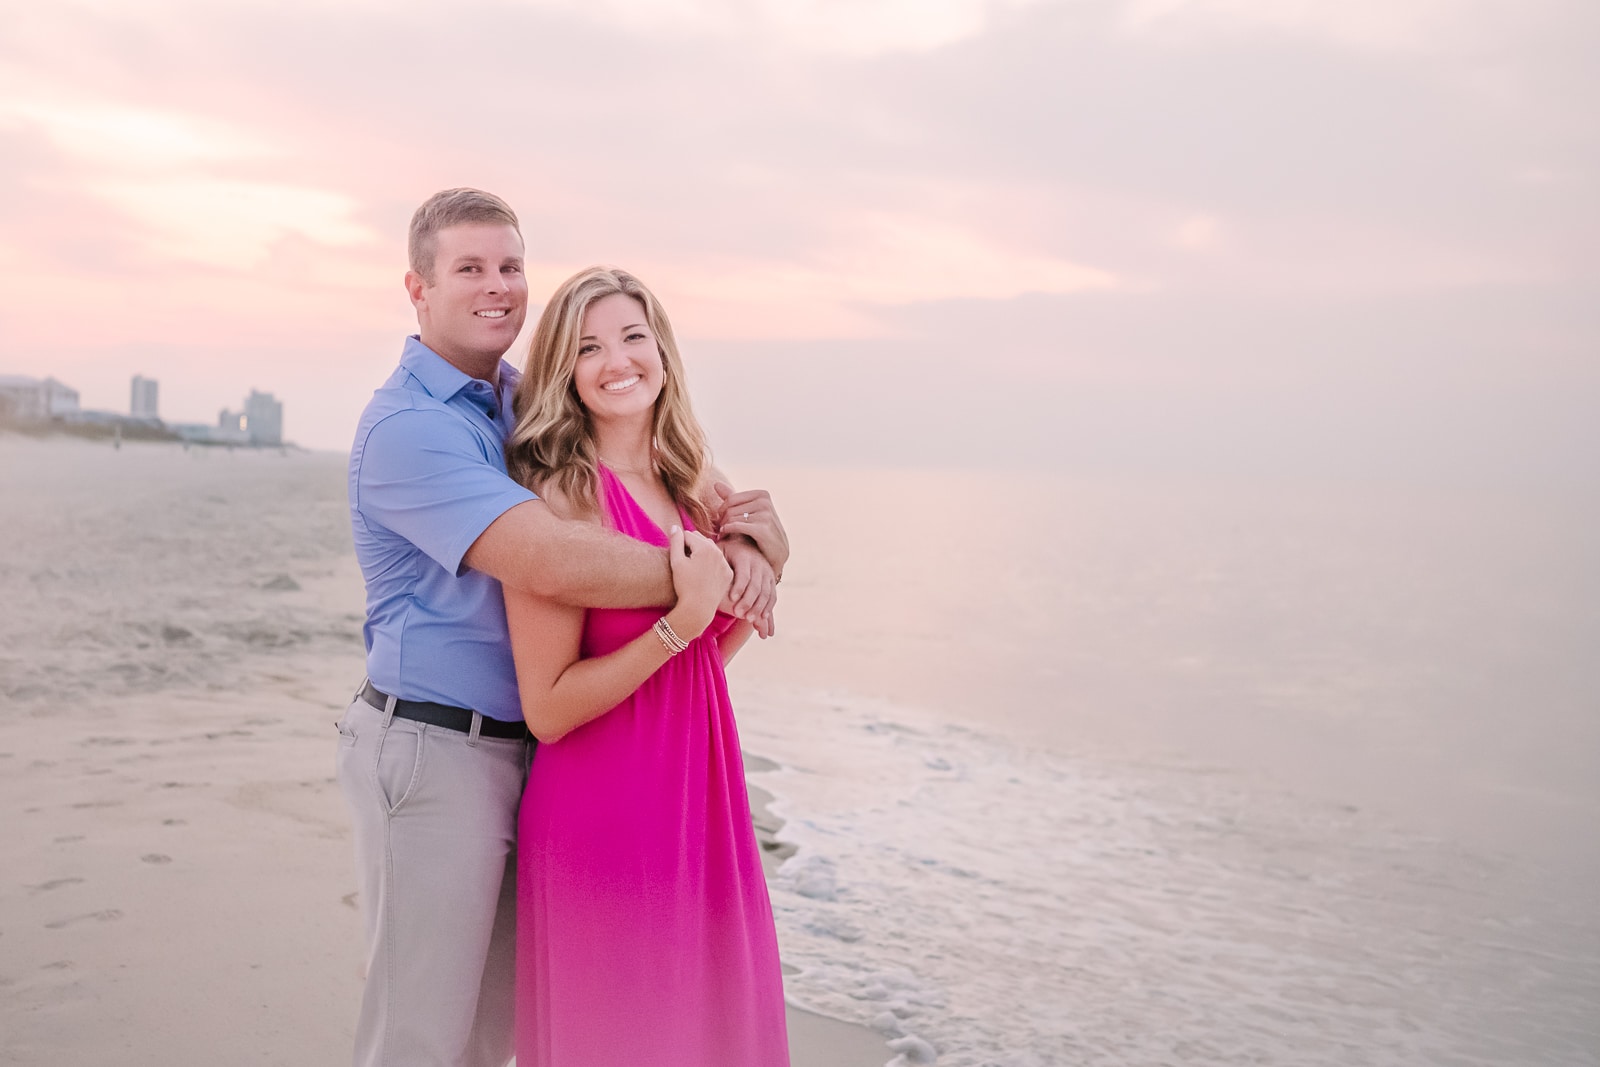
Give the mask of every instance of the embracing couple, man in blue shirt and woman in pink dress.
M 666 312 L 528 304 L 501 198 L 411 219 L 419 334 L 350 451 L 368 680 L 339 721 L 358 1067 L 787 1065 L 723 664 L 789 557 L 710 467 Z

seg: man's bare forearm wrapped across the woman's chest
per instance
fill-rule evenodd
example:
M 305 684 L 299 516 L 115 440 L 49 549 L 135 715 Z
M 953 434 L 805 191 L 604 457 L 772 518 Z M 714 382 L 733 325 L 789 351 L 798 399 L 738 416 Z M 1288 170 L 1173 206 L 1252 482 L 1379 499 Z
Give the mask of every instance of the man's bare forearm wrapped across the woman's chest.
M 576 608 L 661 608 L 677 600 L 666 549 L 557 518 L 539 501 L 490 523 L 466 563 L 509 589 Z

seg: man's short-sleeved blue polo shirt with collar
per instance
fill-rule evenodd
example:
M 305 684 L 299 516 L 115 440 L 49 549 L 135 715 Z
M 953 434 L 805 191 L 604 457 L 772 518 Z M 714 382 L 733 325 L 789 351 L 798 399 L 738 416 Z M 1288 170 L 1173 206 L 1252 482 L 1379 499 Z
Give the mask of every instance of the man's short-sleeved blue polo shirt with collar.
M 506 601 L 461 558 L 534 494 L 506 474 L 517 371 L 499 395 L 408 338 L 350 446 L 350 523 L 366 577 L 366 677 L 405 701 L 522 720 Z

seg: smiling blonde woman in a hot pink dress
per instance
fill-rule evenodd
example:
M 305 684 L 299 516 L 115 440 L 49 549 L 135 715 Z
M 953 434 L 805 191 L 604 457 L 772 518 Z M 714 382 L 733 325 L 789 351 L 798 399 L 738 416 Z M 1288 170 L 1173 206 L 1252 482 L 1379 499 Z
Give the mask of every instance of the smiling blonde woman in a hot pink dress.
M 539 739 L 518 821 L 520 1067 L 787 1067 L 782 976 L 723 664 L 706 438 L 672 326 L 584 270 L 534 331 L 506 458 L 557 514 L 670 545 L 677 605 L 506 590 Z

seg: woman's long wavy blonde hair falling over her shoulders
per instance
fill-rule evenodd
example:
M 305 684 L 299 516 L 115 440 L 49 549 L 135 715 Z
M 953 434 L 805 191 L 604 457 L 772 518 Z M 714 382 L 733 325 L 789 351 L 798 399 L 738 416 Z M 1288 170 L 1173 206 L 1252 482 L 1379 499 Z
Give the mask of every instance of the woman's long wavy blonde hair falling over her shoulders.
M 598 453 L 589 411 L 578 398 L 574 374 L 584 312 L 614 293 L 632 296 L 645 307 L 645 322 L 656 336 L 661 365 L 666 368 L 651 429 L 656 472 L 694 526 L 709 534 L 714 520 L 702 494 L 710 451 L 706 432 L 690 406 L 678 342 L 661 302 L 626 270 L 579 270 L 544 306 L 512 402 L 517 426 L 506 438 L 506 469 L 512 478 L 534 491 L 554 485 L 578 512 L 600 514 L 595 470 Z

